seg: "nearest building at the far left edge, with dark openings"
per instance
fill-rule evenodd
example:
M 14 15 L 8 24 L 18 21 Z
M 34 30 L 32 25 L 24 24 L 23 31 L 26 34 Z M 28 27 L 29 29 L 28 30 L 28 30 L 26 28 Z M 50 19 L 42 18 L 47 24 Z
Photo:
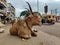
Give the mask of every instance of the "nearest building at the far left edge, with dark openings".
M 4 21 L 7 16 L 7 1 L 0 0 L 0 21 Z

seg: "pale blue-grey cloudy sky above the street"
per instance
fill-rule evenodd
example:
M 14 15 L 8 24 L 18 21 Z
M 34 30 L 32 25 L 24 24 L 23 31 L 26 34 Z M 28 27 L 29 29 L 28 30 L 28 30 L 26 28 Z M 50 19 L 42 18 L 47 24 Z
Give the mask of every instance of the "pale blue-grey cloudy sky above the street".
M 18 17 L 25 8 L 29 8 L 26 1 L 30 3 L 33 11 L 37 11 L 37 0 L 7 0 L 8 3 L 11 3 L 15 7 L 16 17 Z M 38 2 L 39 12 L 41 14 L 44 13 L 45 3 L 48 5 L 48 13 L 51 13 L 51 10 L 57 9 L 57 14 L 60 14 L 60 0 L 38 0 Z

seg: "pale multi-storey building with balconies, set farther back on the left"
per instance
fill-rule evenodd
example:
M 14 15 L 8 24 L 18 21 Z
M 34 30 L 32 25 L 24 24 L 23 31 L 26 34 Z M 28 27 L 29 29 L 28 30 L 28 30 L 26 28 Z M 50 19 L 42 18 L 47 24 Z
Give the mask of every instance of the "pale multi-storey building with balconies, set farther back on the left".
M 15 8 L 11 3 L 7 4 L 7 13 L 8 13 L 7 16 L 9 17 L 9 19 L 14 20 L 14 18 L 15 18 Z

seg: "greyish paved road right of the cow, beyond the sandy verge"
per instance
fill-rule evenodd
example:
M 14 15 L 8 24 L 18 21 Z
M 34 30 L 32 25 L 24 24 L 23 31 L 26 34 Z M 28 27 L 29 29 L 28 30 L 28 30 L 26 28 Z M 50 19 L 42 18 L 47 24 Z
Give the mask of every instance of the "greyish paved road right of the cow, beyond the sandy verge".
M 35 27 L 37 28 L 37 27 Z M 42 25 L 41 27 L 37 28 L 42 32 L 48 33 L 50 35 L 54 35 L 60 38 L 60 23 L 55 23 L 54 25 Z

